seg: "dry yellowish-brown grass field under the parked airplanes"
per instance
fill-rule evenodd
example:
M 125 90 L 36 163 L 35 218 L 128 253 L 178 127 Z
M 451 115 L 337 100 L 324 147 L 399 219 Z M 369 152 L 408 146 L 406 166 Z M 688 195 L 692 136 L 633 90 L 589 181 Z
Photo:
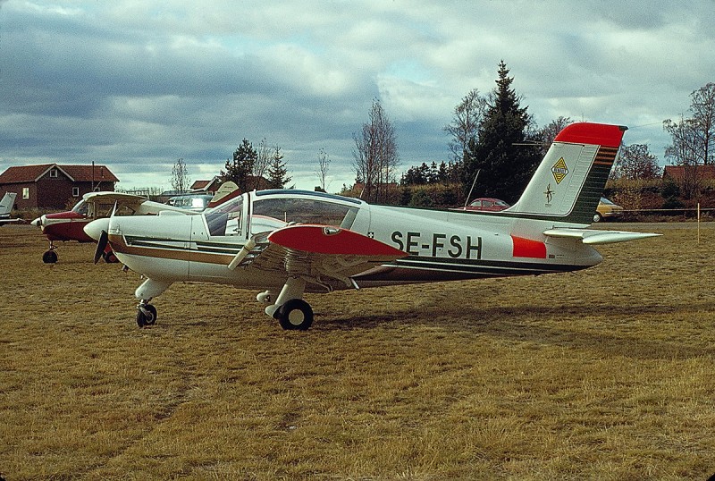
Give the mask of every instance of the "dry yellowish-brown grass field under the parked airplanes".
M 191 283 L 139 329 L 139 275 L 3 227 L 0 474 L 706 479 L 715 229 L 651 229 L 578 274 L 308 296 L 303 333 Z

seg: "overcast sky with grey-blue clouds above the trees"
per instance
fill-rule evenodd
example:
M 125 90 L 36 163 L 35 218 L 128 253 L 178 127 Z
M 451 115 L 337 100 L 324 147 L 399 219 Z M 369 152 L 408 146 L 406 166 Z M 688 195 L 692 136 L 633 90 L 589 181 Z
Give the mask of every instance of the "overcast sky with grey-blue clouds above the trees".
M 454 107 L 501 59 L 538 126 L 627 125 L 664 165 L 662 122 L 715 81 L 715 0 L 0 0 L 0 172 L 95 161 L 169 189 L 178 158 L 210 179 L 265 138 L 299 189 L 323 148 L 334 192 L 373 99 L 402 170 L 446 161 Z

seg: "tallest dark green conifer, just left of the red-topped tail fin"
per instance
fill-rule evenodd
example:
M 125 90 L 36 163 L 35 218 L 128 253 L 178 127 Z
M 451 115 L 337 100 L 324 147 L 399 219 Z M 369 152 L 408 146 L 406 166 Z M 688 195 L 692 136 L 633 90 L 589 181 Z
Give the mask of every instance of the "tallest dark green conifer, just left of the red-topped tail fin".
M 513 80 L 502 60 L 479 135 L 470 142 L 464 159 L 462 183 L 466 191 L 479 173 L 472 197 L 483 195 L 513 203 L 538 165 L 538 148 L 524 145 L 531 116 L 527 107 L 519 105 L 520 97 L 511 88 Z

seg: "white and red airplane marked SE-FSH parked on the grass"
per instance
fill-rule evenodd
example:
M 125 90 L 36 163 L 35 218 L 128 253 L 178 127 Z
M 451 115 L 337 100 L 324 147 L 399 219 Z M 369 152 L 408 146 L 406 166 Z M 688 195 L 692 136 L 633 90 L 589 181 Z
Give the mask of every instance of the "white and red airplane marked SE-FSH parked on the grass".
M 177 281 L 262 291 L 265 313 L 306 330 L 309 292 L 561 273 L 602 260 L 593 245 L 658 234 L 592 230 L 626 127 L 569 125 L 554 139 L 517 203 L 496 213 L 368 205 L 299 190 L 264 190 L 201 215 L 100 219 L 85 231 L 108 242 L 147 280 L 135 292 L 139 326 L 149 301 Z

